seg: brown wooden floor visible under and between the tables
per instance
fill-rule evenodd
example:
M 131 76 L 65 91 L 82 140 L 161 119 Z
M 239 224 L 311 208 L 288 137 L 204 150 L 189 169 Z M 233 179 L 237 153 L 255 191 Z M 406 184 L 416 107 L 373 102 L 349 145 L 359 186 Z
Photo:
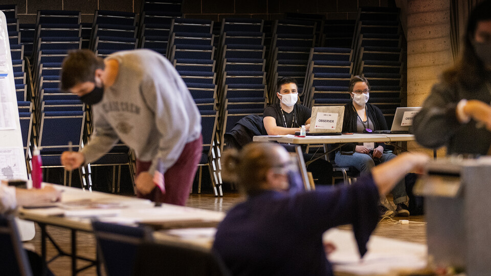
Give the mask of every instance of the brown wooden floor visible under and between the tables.
M 237 202 L 244 200 L 242 196 L 237 193 L 226 193 L 224 197 L 214 197 L 211 194 L 192 194 L 187 202 L 188 206 L 193 208 L 202 208 L 214 211 L 227 212 Z M 399 218 L 395 217 L 395 220 Z M 402 218 L 408 219 L 408 218 Z M 411 216 L 409 217 L 411 222 L 424 222 L 424 216 Z M 341 226 L 341 228 L 348 229 L 350 226 Z M 48 227 L 48 232 L 59 243 L 60 247 L 66 252 L 70 252 L 70 232 L 67 229 Z M 95 239 L 92 234 L 78 232 L 77 246 L 79 255 L 94 258 L 95 256 Z M 417 243 L 426 243 L 426 225 L 415 225 L 413 223 L 408 224 L 390 224 L 387 223 L 387 219 L 378 223 L 375 229 L 374 235 L 394 238 L 403 241 L 412 241 Z M 40 253 L 40 228 L 36 225 L 36 236 L 29 242 L 29 245 L 35 248 L 35 251 Z M 56 251 L 51 244 L 48 246 L 48 257 L 51 258 L 56 254 Z M 86 265 L 83 261 L 78 261 L 78 267 Z M 71 259 L 69 257 L 60 257 L 49 264 L 50 269 L 55 275 L 71 275 Z M 96 275 L 94 267 L 86 269 L 79 273 L 79 275 Z

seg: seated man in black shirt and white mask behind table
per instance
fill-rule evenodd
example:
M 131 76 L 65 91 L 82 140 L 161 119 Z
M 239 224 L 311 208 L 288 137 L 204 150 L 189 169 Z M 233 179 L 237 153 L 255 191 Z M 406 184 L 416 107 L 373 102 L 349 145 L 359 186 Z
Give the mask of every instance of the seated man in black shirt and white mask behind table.
M 272 104 L 263 113 L 263 123 L 267 135 L 295 134 L 300 127 L 305 125 L 305 130 L 310 128 L 310 108 L 297 104 L 298 85 L 293 78 L 281 78 L 276 84 L 276 96 L 279 104 Z M 313 159 L 313 154 L 304 154 L 305 162 Z M 324 159 L 317 159 L 307 166 L 318 184 L 327 185 L 332 179 L 332 165 Z

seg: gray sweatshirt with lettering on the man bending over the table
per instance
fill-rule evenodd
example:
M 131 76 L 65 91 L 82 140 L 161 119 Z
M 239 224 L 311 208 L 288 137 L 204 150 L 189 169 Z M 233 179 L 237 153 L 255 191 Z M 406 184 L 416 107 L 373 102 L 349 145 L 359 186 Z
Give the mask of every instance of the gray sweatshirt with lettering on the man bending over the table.
M 115 53 L 116 81 L 93 105 L 94 132 L 82 149 L 85 163 L 94 162 L 121 139 L 143 162 L 159 158 L 170 168 L 184 146 L 201 134 L 201 116 L 189 90 L 172 64 L 150 50 Z

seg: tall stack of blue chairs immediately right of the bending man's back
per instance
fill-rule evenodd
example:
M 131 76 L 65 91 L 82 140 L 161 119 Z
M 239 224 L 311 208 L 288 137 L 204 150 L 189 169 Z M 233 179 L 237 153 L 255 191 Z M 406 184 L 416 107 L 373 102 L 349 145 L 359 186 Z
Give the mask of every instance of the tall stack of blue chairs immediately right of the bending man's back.
M 202 117 L 203 153 L 198 165 L 197 192 L 201 192 L 203 167 L 206 166 L 215 196 L 222 196 L 215 138 L 218 112 L 212 30 L 210 20 L 173 18 L 167 58 L 186 83 Z

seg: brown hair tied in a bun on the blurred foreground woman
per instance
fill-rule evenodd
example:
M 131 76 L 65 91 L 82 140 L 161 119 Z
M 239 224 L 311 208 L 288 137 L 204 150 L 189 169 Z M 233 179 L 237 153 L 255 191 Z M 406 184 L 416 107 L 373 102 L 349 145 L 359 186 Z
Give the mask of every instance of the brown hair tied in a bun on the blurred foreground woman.
M 221 158 L 222 177 L 237 182 L 239 189 L 248 194 L 260 191 L 267 181 L 266 174 L 279 163 L 278 144 L 249 143 L 240 151 L 228 149 Z

